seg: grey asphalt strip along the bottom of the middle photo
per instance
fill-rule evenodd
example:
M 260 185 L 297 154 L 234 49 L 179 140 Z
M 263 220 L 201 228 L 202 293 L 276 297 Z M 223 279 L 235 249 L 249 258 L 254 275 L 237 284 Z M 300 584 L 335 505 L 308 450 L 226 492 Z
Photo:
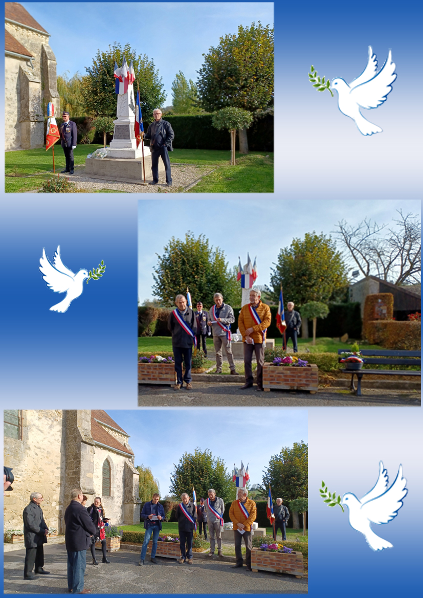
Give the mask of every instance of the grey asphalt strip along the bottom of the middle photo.
M 321 388 L 315 395 L 297 390 L 257 392 L 256 386 L 239 390 L 239 383 L 193 382 L 193 390 L 171 386 L 138 385 L 139 407 L 363 407 L 366 405 L 420 407 L 416 390 L 362 388 L 355 396 L 345 388 Z

